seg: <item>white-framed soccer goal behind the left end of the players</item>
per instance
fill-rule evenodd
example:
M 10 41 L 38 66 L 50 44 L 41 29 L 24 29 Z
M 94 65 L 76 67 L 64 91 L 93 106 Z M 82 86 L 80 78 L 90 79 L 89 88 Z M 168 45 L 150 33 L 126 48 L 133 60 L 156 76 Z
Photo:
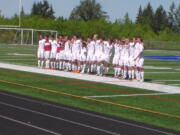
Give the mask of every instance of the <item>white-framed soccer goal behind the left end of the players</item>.
M 56 30 L 0 27 L 0 44 L 37 45 L 40 35 L 53 35 L 57 38 L 58 32 Z

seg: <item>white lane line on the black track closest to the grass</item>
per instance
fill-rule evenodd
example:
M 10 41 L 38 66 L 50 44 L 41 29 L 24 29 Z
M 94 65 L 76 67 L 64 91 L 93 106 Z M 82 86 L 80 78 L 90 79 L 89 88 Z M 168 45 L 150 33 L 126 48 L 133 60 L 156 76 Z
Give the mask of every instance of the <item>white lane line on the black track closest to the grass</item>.
M 62 107 L 60 105 L 55 105 L 55 104 L 47 103 L 47 102 L 44 102 L 44 101 L 38 101 L 38 100 L 34 100 L 34 99 L 29 99 L 29 98 L 26 98 L 26 97 L 20 97 L 20 96 L 16 96 L 16 95 L 12 95 L 12 94 L 7 94 L 7 93 L 4 93 L 4 92 L 3 93 L 0 92 L 0 94 L 1 95 L 5 95 L 5 96 L 9 96 L 9 97 L 13 97 L 13 98 L 16 98 L 16 99 L 32 102 L 32 103 L 38 103 L 38 104 L 41 104 L 41 105 L 47 105 L 47 106 L 54 107 L 54 108 L 57 108 L 57 109 L 62 109 L 62 110 L 76 112 L 76 113 L 80 113 L 80 114 L 91 116 L 91 117 L 96 117 L 96 118 L 100 118 L 100 119 L 104 119 L 104 120 L 109 120 L 109 121 L 125 124 L 125 125 L 128 125 L 128 126 L 138 127 L 138 128 L 142 128 L 142 129 L 158 132 L 158 133 L 167 134 L 167 135 L 171 134 L 171 133 L 167 133 L 167 132 L 160 131 L 160 130 L 157 130 L 157 129 L 148 128 L 148 127 L 140 126 L 140 125 L 137 125 L 137 124 L 132 124 L 132 123 L 129 123 L 129 122 L 124 122 L 124 121 L 121 121 L 121 120 L 117 120 L 117 119 L 113 119 L 113 118 L 108 118 L 108 117 L 97 115 L 97 114 L 93 114 L 93 113 L 79 111 L 79 110 L 75 110 L 75 109 L 68 108 L 68 107 Z

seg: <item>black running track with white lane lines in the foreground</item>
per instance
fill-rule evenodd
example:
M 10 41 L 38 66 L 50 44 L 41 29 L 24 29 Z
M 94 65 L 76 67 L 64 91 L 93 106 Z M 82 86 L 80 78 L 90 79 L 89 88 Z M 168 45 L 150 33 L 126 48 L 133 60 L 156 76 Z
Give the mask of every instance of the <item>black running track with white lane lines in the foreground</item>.
M 122 118 L 0 90 L 0 135 L 178 135 Z

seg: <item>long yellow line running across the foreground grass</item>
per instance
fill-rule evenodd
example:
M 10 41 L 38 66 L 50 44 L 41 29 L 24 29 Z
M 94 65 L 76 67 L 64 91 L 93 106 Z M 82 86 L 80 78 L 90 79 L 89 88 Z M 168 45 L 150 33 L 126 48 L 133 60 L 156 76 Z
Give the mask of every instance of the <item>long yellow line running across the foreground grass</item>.
M 69 93 L 55 91 L 55 90 L 51 90 L 51 89 L 36 87 L 36 86 L 32 86 L 32 85 L 20 84 L 20 83 L 9 82 L 9 81 L 4 81 L 4 80 L 0 80 L 0 82 L 11 84 L 11 85 L 16 85 L 16 86 L 33 88 L 33 89 L 37 89 L 37 90 L 41 90 L 41 91 L 46 91 L 46 92 L 50 92 L 50 93 L 56 93 L 56 94 L 59 94 L 59 95 L 65 95 L 65 96 L 74 97 L 74 98 L 78 98 L 78 99 L 85 99 L 85 100 L 89 100 L 89 101 L 95 101 L 95 102 L 109 104 L 109 105 L 114 105 L 114 106 L 118 106 L 118 107 L 129 108 L 129 109 L 138 110 L 138 111 L 142 111 L 142 112 L 148 112 L 148 113 L 157 114 L 157 115 L 160 115 L 160 116 L 168 116 L 168 117 L 180 119 L 180 116 L 174 115 L 174 114 L 162 113 L 162 112 L 157 112 L 157 111 L 153 111 L 153 110 L 143 109 L 143 108 L 139 108 L 139 107 L 124 105 L 124 104 L 119 104 L 119 103 L 113 103 L 113 102 L 110 102 L 110 101 L 105 101 L 105 100 L 99 100 L 99 99 L 95 99 L 95 98 L 78 96 L 78 95 L 74 95 L 74 94 L 69 94 Z

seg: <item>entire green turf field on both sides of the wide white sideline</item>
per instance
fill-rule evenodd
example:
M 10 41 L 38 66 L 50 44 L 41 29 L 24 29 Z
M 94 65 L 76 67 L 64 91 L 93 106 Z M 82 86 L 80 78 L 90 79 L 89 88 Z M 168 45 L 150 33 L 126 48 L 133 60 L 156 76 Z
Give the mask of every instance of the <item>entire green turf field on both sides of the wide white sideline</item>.
M 36 49 L 36 46 L 1 45 L 0 61 L 36 66 Z M 179 53 L 145 51 L 146 56 Z M 145 81 L 178 86 L 179 67 L 177 61 L 146 59 Z M 0 89 L 180 131 L 180 94 L 141 95 L 158 92 L 3 68 Z M 103 95 L 110 97 L 93 97 Z

